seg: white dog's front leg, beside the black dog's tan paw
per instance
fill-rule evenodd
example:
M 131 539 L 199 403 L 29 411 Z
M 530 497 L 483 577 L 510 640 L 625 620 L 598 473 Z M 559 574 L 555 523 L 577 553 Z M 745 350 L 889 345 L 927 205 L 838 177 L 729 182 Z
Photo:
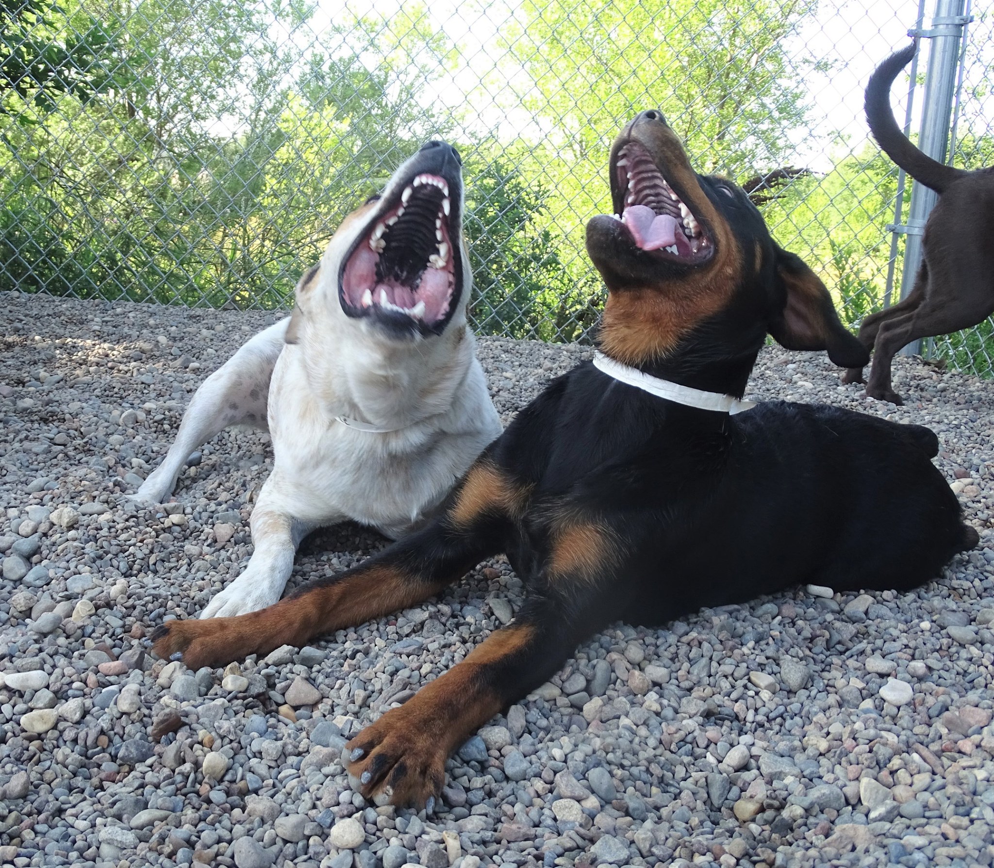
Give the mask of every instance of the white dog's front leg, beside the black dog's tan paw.
M 217 594 L 201 618 L 232 618 L 247 615 L 279 602 L 293 570 L 293 556 L 300 540 L 318 525 L 304 522 L 272 505 L 271 492 L 278 487 L 278 475 L 265 481 L 251 513 L 251 538 L 254 546 L 246 571 Z M 267 492 L 270 493 L 267 496 Z M 329 516 L 328 524 L 345 516 Z

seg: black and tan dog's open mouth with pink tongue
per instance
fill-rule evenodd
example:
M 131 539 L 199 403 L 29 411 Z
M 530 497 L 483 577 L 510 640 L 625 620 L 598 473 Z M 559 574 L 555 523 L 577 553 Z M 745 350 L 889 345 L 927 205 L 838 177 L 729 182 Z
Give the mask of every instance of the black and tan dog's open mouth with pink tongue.
M 613 169 L 621 195 L 621 214 L 613 217 L 624 223 L 636 247 L 658 250 L 688 264 L 710 258 L 714 243 L 707 229 L 663 177 L 643 145 L 624 145 L 617 152 Z

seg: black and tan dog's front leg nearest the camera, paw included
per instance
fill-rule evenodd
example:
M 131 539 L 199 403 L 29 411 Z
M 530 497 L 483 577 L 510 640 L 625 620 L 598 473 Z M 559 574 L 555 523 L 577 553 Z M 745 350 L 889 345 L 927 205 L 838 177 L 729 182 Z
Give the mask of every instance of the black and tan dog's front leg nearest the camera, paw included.
M 377 804 L 426 806 L 445 760 L 501 709 L 555 673 L 580 635 L 560 600 L 535 599 L 458 665 L 388 711 L 346 745 L 352 787 Z

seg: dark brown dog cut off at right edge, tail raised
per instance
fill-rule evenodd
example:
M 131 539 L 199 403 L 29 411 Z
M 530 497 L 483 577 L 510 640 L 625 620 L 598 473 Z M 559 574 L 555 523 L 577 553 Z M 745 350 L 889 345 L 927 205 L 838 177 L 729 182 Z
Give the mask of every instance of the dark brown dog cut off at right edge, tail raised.
M 860 341 L 874 351 L 867 394 L 895 404 L 902 400 L 891 385 L 891 361 L 902 347 L 968 329 L 994 313 L 994 167 L 966 172 L 943 166 L 901 131 L 891 111 L 891 83 L 914 50 L 911 43 L 884 61 L 866 90 L 867 121 L 880 146 L 915 181 L 939 194 L 925 223 L 911 293 L 860 327 Z M 863 368 L 850 368 L 845 381 L 863 382 Z

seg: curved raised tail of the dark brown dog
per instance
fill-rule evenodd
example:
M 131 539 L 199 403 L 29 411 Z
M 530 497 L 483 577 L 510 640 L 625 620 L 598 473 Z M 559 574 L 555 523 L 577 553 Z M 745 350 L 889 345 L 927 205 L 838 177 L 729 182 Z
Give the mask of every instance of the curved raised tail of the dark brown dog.
M 902 132 L 891 110 L 891 84 L 914 57 L 917 40 L 904 51 L 891 55 L 870 76 L 865 107 L 870 131 L 884 152 L 919 184 L 942 193 L 957 178 L 969 173 L 952 166 L 943 166 L 922 154 Z

